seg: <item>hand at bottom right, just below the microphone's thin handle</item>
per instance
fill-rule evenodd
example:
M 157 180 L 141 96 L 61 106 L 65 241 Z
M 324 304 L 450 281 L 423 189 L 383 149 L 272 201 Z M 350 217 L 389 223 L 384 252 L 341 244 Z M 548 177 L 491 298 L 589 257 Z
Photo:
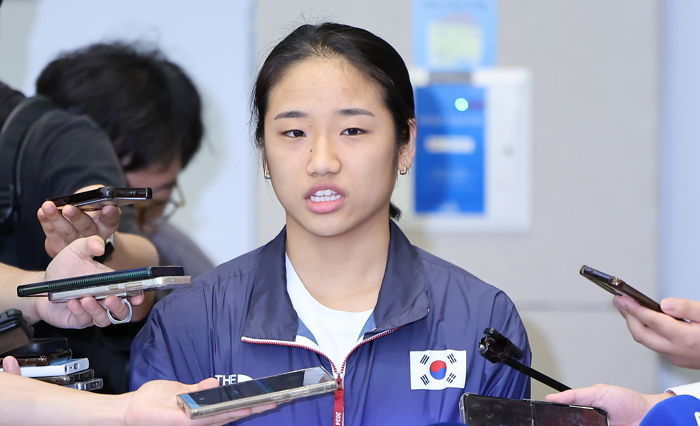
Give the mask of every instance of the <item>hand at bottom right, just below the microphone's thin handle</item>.
M 608 421 L 613 426 L 638 425 L 651 407 L 671 396 L 670 393 L 645 395 L 620 386 L 597 384 L 547 395 L 545 400 L 602 408 L 608 412 Z

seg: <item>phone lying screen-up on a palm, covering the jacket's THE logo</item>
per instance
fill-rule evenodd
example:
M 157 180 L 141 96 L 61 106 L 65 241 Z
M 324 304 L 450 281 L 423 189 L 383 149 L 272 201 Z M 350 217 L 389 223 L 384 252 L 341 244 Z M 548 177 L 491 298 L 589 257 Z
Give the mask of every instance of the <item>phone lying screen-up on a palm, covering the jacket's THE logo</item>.
M 333 392 L 338 383 L 323 367 L 312 367 L 177 396 L 192 419 L 224 411 Z

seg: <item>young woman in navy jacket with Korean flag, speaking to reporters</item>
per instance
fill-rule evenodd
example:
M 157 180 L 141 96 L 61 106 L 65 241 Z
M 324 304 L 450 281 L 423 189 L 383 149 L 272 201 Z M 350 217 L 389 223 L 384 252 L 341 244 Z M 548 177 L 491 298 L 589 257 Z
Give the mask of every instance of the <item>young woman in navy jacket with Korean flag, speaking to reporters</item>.
M 475 392 L 529 397 L 529 379 L 477 348 L 494 327 L 524 349 L 498 289 L 411 245 L 392 218 L 414 159 L 406 66 L 368 31 L 302 25 L 263 64 L 255 137 L 284 207 L 271 242 L 154 308 L 132 348 L 132 383 L 221 384 L 322 365 L 340 390 L 240 424 L 427 425 L 457 421 Z

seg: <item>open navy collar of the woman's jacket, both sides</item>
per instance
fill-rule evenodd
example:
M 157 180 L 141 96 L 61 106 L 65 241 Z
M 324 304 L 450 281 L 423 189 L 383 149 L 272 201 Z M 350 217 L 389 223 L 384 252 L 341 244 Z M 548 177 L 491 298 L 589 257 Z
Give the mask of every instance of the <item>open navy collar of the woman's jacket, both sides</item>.
M 424 318 L 429 311 L 425 272 L 399 227 L 390 221 L 389 256 L 371 332 L 401 327 Z M 263 246 L 255 272 L 243 335 L 255 339 L 294 341 L 299 319 L 287 294 L 284 263 L 286 230 Z

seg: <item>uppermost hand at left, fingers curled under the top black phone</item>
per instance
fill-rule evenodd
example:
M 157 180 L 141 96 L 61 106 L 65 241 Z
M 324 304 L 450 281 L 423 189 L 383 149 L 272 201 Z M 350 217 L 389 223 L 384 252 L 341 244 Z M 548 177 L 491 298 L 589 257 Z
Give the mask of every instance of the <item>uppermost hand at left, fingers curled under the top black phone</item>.
M 119 228 L 120 216 L 121 210 L 116 206 L 84 212 L 71 205 L 59 210 L 51 201 L 45 201 L 37 211 L 37 218 L 46 235 L 44 248 L 51 257 L 81 237 L 99 235 L 106 241 Z

